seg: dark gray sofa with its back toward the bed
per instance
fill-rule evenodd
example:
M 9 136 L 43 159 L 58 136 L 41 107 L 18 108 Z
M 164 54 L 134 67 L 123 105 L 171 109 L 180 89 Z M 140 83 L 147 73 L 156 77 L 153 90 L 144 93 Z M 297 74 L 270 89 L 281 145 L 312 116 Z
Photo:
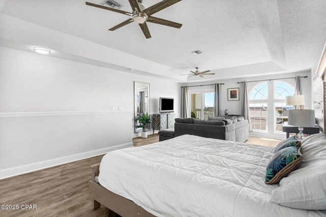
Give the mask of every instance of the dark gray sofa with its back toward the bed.
M 249 138 L 249 123 L 243 117 L 209 117 L 208 120 L 176 118 L 174 137 L 190 134 L 213 139 L 244 142 Z M 167 138 L 165 138 L 167 139 Z

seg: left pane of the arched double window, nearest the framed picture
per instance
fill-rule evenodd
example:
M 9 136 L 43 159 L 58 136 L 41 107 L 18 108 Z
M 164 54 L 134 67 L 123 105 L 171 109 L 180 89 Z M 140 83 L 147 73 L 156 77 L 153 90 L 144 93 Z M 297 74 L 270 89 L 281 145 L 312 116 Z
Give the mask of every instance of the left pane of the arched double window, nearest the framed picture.
M 254 86 L 249 94 L 251 123 L 254 131 L 267 131 L 267 82 Z

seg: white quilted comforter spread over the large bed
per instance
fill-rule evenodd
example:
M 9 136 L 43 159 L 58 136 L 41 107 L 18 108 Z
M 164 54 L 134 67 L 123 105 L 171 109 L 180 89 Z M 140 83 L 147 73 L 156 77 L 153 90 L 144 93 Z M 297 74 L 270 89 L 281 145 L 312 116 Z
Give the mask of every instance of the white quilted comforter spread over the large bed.
M 273 147 L 184 135 L 107 153 L 100 184 L 157 216 L 326 216 L 269 202 Z

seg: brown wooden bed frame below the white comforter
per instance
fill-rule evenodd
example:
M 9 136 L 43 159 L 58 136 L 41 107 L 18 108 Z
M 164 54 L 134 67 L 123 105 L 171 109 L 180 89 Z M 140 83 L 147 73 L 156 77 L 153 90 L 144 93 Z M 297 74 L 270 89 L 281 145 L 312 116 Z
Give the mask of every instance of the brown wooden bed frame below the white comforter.
M 104 205 L 108 209 L 110 209 L 109 216 L 115 216 L 119 214 L 123 217 L 154 217 L 155 215 L 149 213 L 141 206 L 135 204 L 131 200 L 128 200 L 120 195 L 117 195 L 105 188 L 102 185 L 96 183 L 95 176 L 99 174 L 100 164 L 94 164 L 91 166 L 93 169 L 92 179 L 89 181 L 89 186 L 91 190 L 91 200 L 92 200 L 92 208 L 97 209 L 100 205 Z

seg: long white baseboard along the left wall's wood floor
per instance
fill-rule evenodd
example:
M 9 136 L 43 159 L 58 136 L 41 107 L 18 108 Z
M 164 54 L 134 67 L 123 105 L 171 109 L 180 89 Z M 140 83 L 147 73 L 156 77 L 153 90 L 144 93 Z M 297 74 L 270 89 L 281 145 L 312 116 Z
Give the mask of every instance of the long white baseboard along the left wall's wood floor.
M 77 154 L 65 156 L 62 158 L 56 158 L 56 159 L 51 159 L 51 160 L 47 160 L 47 161 L 41 161 L 41 162 L 36 162 L 33 164 L 26 164 L 26 165 L 22 165 L 22 166 L 18 166 L 18 167 L 12 167 L 12 168 L 8 168 L 8 169 L 0 170 L 0 179 L 9 178 L 12 176 L 30 173 L 33 171 L 46 169 L 46 168 L 58 166 L 61 164 L 70 163 L 73 161 L 79 161 L 79 160 L 83 160 L 86 158 L 99 156 L 101 154 L 105 154 L 107 152 L 121 149 L 121 148 L 126 148 L 126 147 L 132 147 L 132 142 L 115 145 L 115 146 L 111 146 L 111 147 L 107 147 L 107 148 L 101 148 L 101 149 L 97 149 L 97 150 L 87 151 L 87 152 L 83 152 L 83 153 L 77 153 Z

